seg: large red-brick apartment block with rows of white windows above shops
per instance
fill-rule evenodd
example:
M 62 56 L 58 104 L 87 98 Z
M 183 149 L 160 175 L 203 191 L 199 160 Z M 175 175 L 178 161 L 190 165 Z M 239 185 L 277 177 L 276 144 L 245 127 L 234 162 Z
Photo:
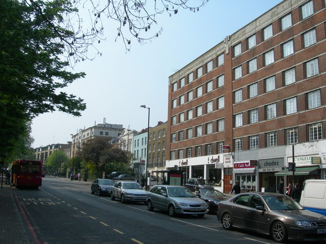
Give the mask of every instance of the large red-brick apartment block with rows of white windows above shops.
M 285 0 L 169 77 L 168 169 L 276 192 L 294 151 L 295 182 L 326 178 L 325 6 Z

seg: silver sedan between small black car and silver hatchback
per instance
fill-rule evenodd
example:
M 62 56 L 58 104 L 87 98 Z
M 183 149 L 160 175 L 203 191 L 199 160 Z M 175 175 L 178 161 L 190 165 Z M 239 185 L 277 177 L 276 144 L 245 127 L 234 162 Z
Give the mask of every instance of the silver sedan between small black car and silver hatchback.
M 118 181 L 111 187 L 111 199 L 120 198 L 122 203 L 136 201 L 146 203 L 147 192 L 138 182 Z

